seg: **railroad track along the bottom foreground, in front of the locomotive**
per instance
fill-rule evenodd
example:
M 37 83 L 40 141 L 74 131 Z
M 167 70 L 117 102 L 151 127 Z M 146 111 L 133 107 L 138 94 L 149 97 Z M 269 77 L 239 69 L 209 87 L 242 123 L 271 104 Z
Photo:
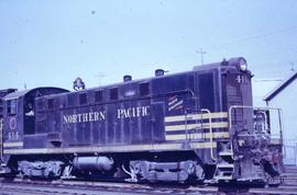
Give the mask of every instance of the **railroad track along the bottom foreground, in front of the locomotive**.
M 119 182 L 0 180 L 0 195 L 198 195 L 198 194 L 296 194 L 297 185 L 278 187 L 218 187 L 147 185 Z

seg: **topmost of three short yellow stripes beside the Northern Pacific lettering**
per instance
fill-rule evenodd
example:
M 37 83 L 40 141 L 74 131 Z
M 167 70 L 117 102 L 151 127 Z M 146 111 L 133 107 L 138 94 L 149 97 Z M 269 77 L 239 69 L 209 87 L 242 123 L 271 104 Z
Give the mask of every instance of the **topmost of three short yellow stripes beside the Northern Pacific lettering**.
M 169 122 L 184 122 L 186 118 L 186 115 L 176 115 L 176 116 L 167 116 L 165 117 L 165 123 Z M 220 112 L 220 113 L 210 113 L 211 118 L 226 118 L 228 117 L 227 112 Z M 187 119 L 208 119 L 209 114 L 204 113 L 204 114 L 188 114 Z

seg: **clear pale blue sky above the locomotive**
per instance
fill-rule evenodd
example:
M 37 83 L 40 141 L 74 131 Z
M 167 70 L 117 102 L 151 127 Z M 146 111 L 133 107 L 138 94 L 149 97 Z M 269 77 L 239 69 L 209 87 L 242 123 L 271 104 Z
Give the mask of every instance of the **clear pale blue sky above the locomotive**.
M 278 80 L 297 69 L 296 10 L 296 0 L 1 0 L 0 89 L 187 71 L 200 49 L 205 64 L 242 56 L 257 83 Z

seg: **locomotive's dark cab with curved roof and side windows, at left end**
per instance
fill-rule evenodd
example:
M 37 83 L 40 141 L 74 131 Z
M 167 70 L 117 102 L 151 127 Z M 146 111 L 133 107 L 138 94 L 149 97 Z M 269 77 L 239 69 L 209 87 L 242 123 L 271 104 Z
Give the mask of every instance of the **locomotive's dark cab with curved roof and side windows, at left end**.
M 42 139 L 34 139 L 35 134 L 35 97 L 52 93 L 64 93 L 59 88 L 36 88 L 13 92 L 3 97 L 3 162 L 9 163 L 19 149 L 38 145 Z M 10 154 L 7 154 L 10 153 Z

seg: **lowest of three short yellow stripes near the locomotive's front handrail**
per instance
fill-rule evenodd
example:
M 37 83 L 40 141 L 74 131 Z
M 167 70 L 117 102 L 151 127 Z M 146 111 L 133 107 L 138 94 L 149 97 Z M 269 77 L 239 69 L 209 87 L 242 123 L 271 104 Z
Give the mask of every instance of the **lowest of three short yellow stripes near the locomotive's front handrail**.
M 190 139 L 209 139 L 211 136 L 210 133 L 206 134 L 188 134 L 188 138 Z M 166 140 L 185 140 L 186 135 L 166 135 Z M 212 138 L 229 138 L 229 133 L 212 133 Z

